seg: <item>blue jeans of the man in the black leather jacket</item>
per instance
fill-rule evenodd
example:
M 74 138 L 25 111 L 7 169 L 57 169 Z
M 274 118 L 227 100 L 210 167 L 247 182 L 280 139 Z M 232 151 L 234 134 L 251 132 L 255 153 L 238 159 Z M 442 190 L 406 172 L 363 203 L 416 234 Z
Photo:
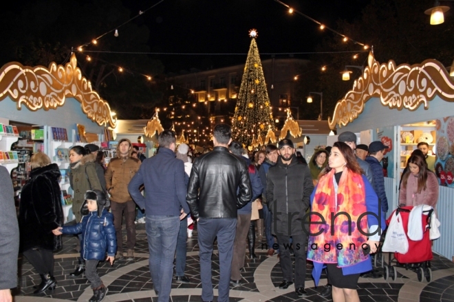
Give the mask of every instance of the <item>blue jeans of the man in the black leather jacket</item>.
M 217 301 L 228 302 L 233 242 L 235 240 L 236 231 L 237 218 L 200 218 L 197 222 L 203 301 L 213 301 L 211 255 L 213 255 L 213 242 L 217 237 L 217 250 L 219 251 L 219 286 Z

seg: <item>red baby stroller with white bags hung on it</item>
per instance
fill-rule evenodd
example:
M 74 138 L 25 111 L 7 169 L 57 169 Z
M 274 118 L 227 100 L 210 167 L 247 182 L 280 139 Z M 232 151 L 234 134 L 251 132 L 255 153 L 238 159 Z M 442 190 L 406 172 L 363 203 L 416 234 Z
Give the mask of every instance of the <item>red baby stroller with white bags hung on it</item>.
M 391 216 L 387 219 L 387 224 L 391 222 L 393 215 L 398 215 L 402 218 L 402 224 L 404 227 L 405 235 L 408 233 L 408 224 L 409 216 L 413 207 L 400 207 L 393 211 Z M 429 229 L 431 216 L 433 209 L 427 211 L 422 211 L 421 220 L 422 220 L 422 240 L 413 241 L 407 235 L 407 240 L 409 242 L 409 251 L 407 253 L 393 253 L 394 258 L 391 258 L 391 253 L 389 253 L 388 265 L 384 269 L 384 278 L 387 280 L 389 277 L 393 281 L 397 279 L 397 270 L 396 267 L 403 267 L 406 270 L 413 270 L 418 274 L 418 281 L 422 282 L 424 278 L 426 281 L 432 281 L 432 270 L 431 270 L 431 260 L 433 259 L 431 240 L 429 237 Z M 393 266 L 392 263 L 395 262 Z

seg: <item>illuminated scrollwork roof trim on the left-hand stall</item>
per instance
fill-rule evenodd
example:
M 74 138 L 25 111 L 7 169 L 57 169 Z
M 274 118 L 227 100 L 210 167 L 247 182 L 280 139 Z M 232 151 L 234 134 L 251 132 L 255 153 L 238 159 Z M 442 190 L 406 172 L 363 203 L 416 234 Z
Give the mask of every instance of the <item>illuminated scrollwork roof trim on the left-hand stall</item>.
M 66 97 L 74 97 L 80 102 L 83 113 L 96 124 L 116 126 L 109 104 L 82 76 L 75 54 L 65 66 L 52 62 L 48 69 L 23 66 L 18 62 L 3 65 L 0 69 L 0 101 L 7 96 L 17 102 L 18 110 L 24 104 L 31 111 L 56 109 L 65 104 Z

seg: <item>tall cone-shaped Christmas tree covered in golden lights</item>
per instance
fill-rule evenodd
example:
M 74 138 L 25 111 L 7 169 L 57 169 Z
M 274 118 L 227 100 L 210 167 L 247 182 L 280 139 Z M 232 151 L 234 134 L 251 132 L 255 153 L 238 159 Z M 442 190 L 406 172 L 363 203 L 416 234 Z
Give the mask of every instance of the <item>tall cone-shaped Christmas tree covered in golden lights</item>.
M 271 102 L 266 91 L 259 49 L 255 43 L 257 31 L 250 30 L 249 36 L 252 40 L 232 122 L 233 138 L 246 146 L 251 145 L 252 139 L 262 141 L 259 137 L 265 137 L 269 128 L 274 130 Z

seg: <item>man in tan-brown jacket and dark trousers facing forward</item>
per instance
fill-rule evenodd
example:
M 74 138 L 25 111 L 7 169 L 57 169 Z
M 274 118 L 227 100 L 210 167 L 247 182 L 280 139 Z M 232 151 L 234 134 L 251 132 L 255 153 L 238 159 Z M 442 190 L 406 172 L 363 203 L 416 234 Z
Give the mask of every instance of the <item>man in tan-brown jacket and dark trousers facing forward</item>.
M 140 160 L 131 157 L 132 144 L 129 139 L 120 139 L 117 146 L 117 157 L 111 159 L 105 172 L 106 189 L 110 194 L 111 211 L 114 214 L 114 225 L 117 233 L 117 257 L 123 257 L 123 240 L 121 233 L 122 215 L 125 212 L 127 231 L 127 259 L 134 257 L 136 245 L 136 203 L 129 195 L 128 185 L 138 172 Z

